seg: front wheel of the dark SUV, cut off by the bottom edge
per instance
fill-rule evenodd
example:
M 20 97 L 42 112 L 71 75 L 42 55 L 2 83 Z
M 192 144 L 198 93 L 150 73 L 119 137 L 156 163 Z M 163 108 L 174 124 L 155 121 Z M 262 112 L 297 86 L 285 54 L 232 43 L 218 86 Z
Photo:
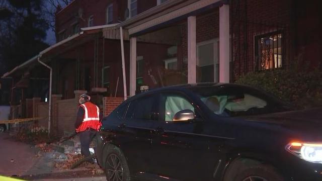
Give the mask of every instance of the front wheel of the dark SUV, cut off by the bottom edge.
M 232 169 L 227 170 L 224 181 L 283 181 L 284 178 L 276 168 L 268 164 L 252 162 L 245 164 L 235 162 Z

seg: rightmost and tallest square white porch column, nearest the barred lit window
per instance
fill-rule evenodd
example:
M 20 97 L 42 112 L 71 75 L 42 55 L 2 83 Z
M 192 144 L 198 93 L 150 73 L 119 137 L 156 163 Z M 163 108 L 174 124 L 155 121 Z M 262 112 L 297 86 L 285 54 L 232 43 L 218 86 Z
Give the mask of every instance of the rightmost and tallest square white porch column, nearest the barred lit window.
M 229 83 L 229 5 L 219 8 L 219 82 Z

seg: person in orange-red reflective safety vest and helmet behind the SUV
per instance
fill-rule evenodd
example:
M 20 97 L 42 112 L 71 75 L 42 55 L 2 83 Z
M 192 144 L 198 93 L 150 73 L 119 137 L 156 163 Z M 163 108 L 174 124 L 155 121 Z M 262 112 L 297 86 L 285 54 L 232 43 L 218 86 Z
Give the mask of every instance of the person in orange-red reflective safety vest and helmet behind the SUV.
M 79 108 L 75 122 L 75 131 L 81 141 L 81 153 L 85 157 L 90 156 L 90 144 L 101 127 L 100 109 L 90 100 L 91 97 L 87 94 L 79 97 Z

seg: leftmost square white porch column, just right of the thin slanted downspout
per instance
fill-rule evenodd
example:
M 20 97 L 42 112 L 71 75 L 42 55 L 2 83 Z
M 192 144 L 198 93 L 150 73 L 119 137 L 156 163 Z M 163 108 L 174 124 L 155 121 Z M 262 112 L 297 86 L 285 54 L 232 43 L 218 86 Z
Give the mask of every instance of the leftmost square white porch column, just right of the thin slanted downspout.
M 136 37 L 130 38 L 130 96 L 136 90 Z

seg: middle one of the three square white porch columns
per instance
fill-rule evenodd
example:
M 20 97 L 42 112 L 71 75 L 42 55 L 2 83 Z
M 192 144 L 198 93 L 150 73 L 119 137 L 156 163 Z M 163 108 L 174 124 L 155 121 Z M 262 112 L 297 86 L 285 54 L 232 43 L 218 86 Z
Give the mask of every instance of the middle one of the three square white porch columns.
M 188 83 L 196 83 L 196 17 L 188 17 Z

